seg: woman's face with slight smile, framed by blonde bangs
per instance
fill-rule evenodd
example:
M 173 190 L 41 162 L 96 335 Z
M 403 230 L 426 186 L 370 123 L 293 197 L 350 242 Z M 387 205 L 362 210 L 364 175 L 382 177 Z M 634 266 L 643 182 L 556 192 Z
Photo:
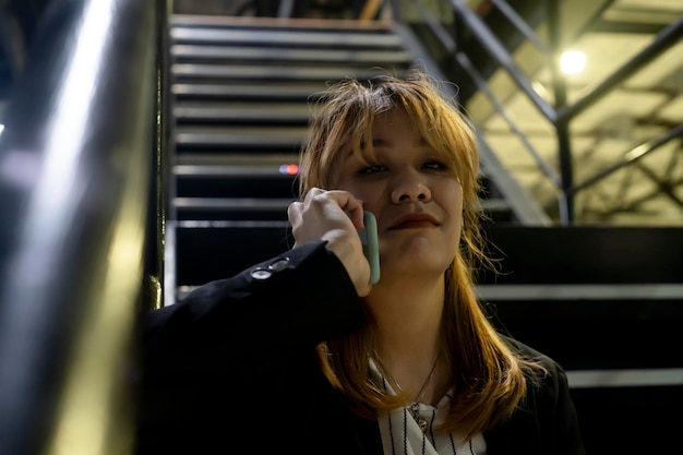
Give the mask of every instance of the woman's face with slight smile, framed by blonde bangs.
M 349 191 L 375 215 L 383 279 L 443 275 L 460 240 L 457 169 L 423 141 L 399 108 L 375 117 L 372 142 L 376 163 L 363 164 L 348 152 L 335 166 L 334 188 Z

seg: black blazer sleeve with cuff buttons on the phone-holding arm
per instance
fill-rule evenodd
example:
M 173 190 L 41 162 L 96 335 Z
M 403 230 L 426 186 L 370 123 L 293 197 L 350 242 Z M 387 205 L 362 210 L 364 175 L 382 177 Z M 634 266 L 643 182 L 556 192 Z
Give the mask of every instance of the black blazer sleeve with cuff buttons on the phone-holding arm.
M 308 243 L 145 314 L 140 331 L 145 382 L 276 361 L 354 331 L 362 314 L 336 255 L 323 241 Z

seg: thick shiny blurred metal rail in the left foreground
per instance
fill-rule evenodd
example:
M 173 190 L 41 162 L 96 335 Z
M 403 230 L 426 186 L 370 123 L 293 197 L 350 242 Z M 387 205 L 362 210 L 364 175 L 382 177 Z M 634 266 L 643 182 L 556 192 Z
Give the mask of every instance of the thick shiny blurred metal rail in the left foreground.
M 46 11 L 0 137 L 0 453 L 130 452 L 125 384 L 156 274 L 163 1 Z M 155 20 L 158 19 L 158 20 Z M 149 195 L 151 194 L 151 195 Z M 155 239 L 156 236 L 156 239 Z M 154 282 L 154 279 L 152 279 Z

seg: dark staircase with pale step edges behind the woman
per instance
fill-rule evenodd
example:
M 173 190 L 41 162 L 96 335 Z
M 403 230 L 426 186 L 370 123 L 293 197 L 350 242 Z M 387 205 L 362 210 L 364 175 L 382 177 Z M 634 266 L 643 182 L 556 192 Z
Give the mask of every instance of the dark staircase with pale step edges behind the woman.
M 170 38 L 165 304 L 290 248 L 299 147 L 328 83 L 412 64 L 446 80 L 394 22 L 175 15 Z M 486 228 L 503 273 L 477 291 L 494 323 L 566 368 L 589 453 L 628 446 L 615 442 L 624 432 L 674 434 L 680 423 L 650 416 L 683 403 L 680 356 L 666 348 L 683 321 L 681 228 L 550 227 L 480 145 Z

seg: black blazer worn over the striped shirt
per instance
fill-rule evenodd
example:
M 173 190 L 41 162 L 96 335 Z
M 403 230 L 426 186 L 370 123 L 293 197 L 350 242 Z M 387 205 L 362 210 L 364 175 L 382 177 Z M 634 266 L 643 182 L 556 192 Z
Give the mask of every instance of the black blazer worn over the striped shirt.
M 312 242 L 145 314 L 136 380 L 137 455 L 373 454 L 375 421 L 348 410 L 313 347 L 359 327 L 363 306 L 337 258 Z M 584 453 L 566 375 L 484 433 L 489 455 Z

